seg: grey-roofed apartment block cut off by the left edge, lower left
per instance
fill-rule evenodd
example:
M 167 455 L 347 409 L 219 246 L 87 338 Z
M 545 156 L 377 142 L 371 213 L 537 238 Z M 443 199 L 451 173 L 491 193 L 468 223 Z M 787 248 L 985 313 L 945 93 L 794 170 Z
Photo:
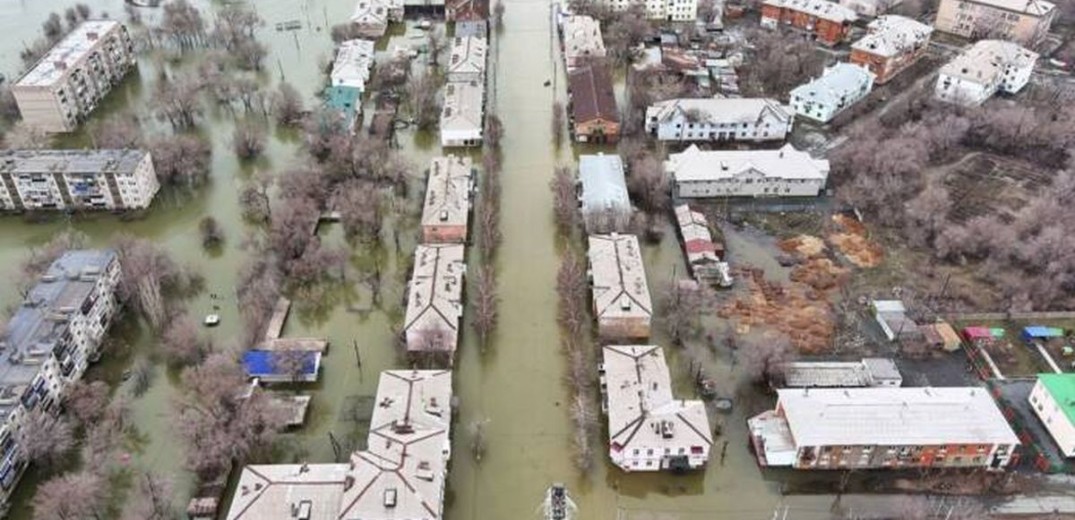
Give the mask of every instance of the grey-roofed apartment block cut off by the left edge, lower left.
M 0 506 L 29 461 L 20 431 L 31 413 L 54 413 L 98 356 L 116 313 L 119 260 L 111 250 L 71 250 L 54 261 L 0 335 Z

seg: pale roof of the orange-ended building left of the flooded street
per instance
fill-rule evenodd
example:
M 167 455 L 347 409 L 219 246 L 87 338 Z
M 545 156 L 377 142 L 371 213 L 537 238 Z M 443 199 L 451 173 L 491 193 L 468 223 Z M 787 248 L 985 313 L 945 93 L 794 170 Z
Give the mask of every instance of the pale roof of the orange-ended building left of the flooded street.
M 429 164 L 422 226 L 467 226 L 471 204 L 471 158 L 434 157 Z

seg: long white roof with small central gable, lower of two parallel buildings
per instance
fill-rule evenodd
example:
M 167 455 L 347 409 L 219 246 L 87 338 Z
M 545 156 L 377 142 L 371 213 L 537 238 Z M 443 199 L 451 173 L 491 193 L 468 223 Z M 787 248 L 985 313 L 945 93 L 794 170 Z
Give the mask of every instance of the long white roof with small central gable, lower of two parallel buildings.
M 743 175 L 823 180 L 829 177 L 829 161 L 815 159 L 790 144 L 780 149 L 706 151 L 691 145 L 683 153 L 670 155 L 664 170 L 677 183 L 717 180 Z

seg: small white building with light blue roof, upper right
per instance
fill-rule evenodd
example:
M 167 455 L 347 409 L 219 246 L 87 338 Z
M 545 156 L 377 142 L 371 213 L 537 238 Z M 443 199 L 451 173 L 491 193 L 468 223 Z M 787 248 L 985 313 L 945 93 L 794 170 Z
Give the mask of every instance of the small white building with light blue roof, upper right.
M 857 64 L 826 67 L 820 77 L 791 90 L 791 107 L 800 116 L 829 122 L 869 96 L 873 82 L 873 72 Z

